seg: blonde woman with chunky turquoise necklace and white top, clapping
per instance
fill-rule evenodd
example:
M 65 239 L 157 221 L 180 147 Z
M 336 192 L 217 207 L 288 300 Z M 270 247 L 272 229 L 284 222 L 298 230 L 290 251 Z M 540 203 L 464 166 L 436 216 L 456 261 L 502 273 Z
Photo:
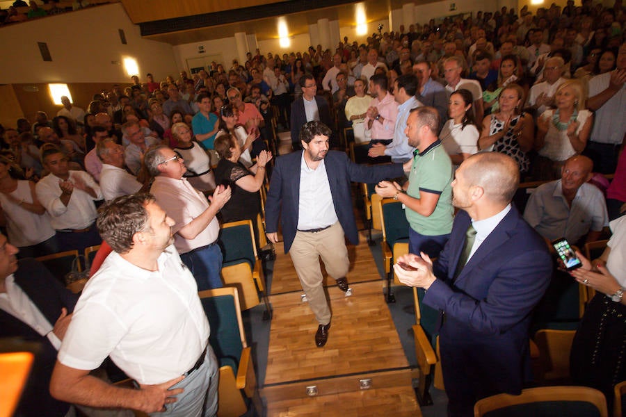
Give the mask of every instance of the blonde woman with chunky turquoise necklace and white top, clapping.
M 565 160 L 583 152 L 593 126 L 593 114 L 581 108 L 585 97 L 580 81 L 565 81 L 554 98 L 556 109 L 545 111 L 537 120 L 539 158 L 533 177 L 538 180 L 561 178 Z

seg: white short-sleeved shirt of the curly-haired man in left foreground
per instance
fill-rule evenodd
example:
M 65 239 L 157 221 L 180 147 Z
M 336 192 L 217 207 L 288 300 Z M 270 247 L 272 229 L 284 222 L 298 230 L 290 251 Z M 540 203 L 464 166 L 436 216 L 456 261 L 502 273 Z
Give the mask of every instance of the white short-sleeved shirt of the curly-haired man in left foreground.
M 74 309 L 58 361 L 95 369 L 107 356 L 139 384 L 161 384 L 189 370 L 209 340 L 193 275 L 169 246 L 158 270 L 115 252 L 89 279 Z

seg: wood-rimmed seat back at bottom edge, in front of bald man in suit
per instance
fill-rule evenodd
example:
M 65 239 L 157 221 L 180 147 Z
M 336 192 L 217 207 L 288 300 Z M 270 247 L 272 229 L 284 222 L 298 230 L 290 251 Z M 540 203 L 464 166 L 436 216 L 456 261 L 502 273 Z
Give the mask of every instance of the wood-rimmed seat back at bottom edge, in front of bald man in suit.
M 521 395 L 497 394 L 474 404 L 474 417 L 608 417 L 604 394 L 586 386 L 542 386 Z

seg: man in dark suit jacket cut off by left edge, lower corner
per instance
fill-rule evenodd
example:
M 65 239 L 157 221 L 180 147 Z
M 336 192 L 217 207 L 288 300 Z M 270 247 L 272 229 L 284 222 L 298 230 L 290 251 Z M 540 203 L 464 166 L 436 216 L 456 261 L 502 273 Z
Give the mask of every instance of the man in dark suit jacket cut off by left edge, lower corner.
M 0 251 L 0 338 L 19 337 L 24 341 L 40 343 L 41 346 L 35 354 L 31 376 L 22 393 L 16 415 L 65 416 L 70 404 L 52 398 L 48 386 L 58 345 L 61 344 L 60 340 L 63 339 L 78 297 L 63 288 L 35 259 L 20 259 L 18 264 L 15 261 L 17 248 L 7 243 L 3 235 L 0 235 L 0 246 L 3 247 Z M 26 297 L 21 298 L 20 293 Z M 31 306 L 35 306 L 48 323 L 33 319 L 35 315 L 28 313 Z M 30 318 L 13 315 L 22 315 L 24 311 Z M 35 320 L 40 331 L 23 319 Z M 48 331 L 46 335 L 40 334 Z

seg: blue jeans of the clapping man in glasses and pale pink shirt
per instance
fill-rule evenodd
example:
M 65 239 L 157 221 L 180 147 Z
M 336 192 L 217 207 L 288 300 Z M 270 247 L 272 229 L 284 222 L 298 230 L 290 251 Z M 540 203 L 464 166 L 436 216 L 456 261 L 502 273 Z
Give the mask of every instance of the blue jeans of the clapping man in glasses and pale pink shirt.
M 180 255 L 187 268 L 191 270 L 198 291 L 222 288 L 220 270 L 222 270 L 222 250 L 218 245 L 204 246 Z

